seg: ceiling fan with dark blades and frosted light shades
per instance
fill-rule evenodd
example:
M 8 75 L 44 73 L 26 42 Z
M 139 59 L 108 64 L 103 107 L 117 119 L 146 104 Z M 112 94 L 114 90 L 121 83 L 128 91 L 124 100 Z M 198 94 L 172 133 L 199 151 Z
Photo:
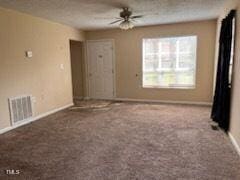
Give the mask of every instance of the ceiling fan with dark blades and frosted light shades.
M 120 17 L 116 18 L 117 19 L 116 21 L 110 23 L 110 24 L 115 24 L 120 22 L 119 24 L 120 29 L 123 29 L 123 30 L 132 29 L 134 27 L 133 21 L 135 19 L 139 19 L 143 17 L 143 15 L 132 16 L 132 11 L 130 11 L 128 7 L 124 7 L 122 9 L 123 10 L 120 12 Z

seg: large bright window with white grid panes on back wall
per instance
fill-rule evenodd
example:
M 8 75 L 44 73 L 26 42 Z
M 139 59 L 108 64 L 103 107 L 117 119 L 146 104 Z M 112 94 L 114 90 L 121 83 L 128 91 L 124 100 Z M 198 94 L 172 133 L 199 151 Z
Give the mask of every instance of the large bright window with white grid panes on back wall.
M 143 39 L 143 87 L 194 88 L 197 36 Z

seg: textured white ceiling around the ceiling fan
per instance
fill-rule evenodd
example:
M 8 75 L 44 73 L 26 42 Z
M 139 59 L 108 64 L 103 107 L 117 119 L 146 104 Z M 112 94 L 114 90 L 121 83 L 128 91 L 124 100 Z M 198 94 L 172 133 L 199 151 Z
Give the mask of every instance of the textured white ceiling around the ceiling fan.
M 217 18 L 229 0 L 0 0 L 0 6 L 70 25 L 83 30 L 109 25 L 121 7 L 133 15 L 148 14 L 136 26 Z M 111 19 L 112 18 L 112 19 Z

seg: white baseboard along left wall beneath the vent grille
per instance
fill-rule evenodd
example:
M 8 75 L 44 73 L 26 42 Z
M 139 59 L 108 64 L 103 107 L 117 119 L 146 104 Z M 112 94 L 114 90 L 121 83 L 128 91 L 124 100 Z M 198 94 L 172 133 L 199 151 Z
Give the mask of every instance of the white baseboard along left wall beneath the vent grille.
M 32 118 L 30 118 L 30 119 L 28 119 L 28 120 L 26 120 L 26 121 L 24 121 L 24 122 L 21 122 L 21 123 L 19 123 L 19 124 L 15 124 L 15 125 L 13 125 L 13 126 L 9 126 L 9 127 L 4 128 L 4 129 L 0 129 L 0 134 L 3 134 L 3 133 L 6 133 L 6 132 L 8 132 L 8 131 L 11 131 L 11 130 L 13 130 L 13 129 L 16 129 L 16 128 L 20 127 L 20 126 L 24 126 L 24 125 L 26 125 L 26 124 L 29 124 L 29 123 L 33 122 L 33 121 L 39 120 L 39 119 L 41 119 L 41 118 L 44 118 L 44 117 L 49 116 L 49 115 L 51 115 L 51 114 L 54 114 L 54 113 L 56 113 L 56 112 L 58 112 L 58 111 L 64 110 L 64 109 L 66 109 L 66 108 L 69 108 L 69 107 L 71 107 L 71 106 L 73 106 L 73 103 L 68 104 L 68 105 L 66 105 L 66 106 L 62 106 L 62 107 L 60 107 L 60 108 L 53 109 L 53 110 L 48 111 L 48 112 L 46 112 L 46 113 L 40 114 L 40 115 L 38 115 L 38 116 L 32 117 Z

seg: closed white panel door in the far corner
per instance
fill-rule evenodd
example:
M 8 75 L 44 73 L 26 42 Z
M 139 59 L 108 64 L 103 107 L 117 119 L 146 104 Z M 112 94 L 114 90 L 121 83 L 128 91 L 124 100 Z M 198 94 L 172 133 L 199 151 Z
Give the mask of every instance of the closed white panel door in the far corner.
M 113 41 L 88 41 L 89 95 L 93 99 L 114 97 Z

